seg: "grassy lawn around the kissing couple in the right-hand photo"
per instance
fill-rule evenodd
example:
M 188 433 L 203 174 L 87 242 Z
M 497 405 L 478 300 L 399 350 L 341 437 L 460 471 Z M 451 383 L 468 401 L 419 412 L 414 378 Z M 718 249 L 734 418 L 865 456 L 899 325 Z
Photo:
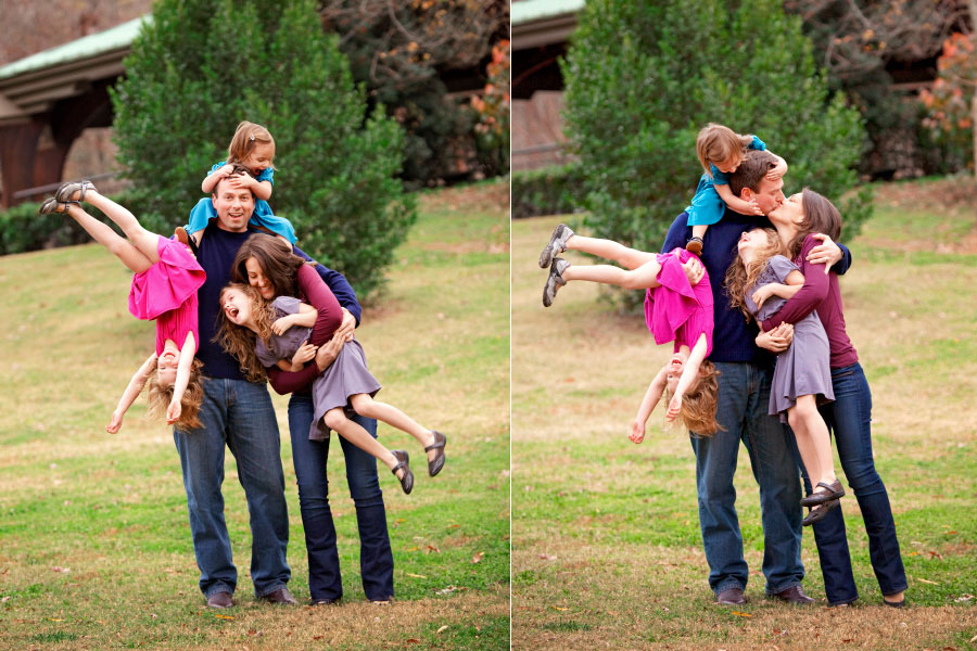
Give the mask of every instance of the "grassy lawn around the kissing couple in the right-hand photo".
M 962 182 L 969 192 L 951 191 Z M 745 450 L 735 486 L 749 603 L 713 604 L 687 435 L 663 429 L 659 406 L 644 444 L 626 437 L 670 346 L 656 346 L 642 315 L 617 312 L 588 283 L 543 308 L 536 258 L 561 218 L 513 221 L 513 648 L 977 649 L 973 195 L 973 181 L 960 179 L 879 187 L 841 280 L 909 575 L 911 605 L 901 611 L 881 605 L 853 498 L 842 502 L 858 605 L 825 607 L 809 532 L 804 588 L 819 603 L 764 598 L 759 495 Z

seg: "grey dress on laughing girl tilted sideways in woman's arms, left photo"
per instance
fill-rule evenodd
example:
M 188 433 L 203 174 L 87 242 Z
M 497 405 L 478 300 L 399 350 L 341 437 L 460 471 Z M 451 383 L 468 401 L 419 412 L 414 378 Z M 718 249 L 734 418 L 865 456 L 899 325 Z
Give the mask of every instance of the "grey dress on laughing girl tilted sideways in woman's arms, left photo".
M 271 302 L 279 316 L 293 315 L 299 311 L 300 301 L 292 296 L 279 296 Z M 265 366 L 275 366 L 279 359 L 291 359 L 303 342 L 308 340 L 312 328 L 292 327 L 284 334 L 272 334 L 270 348 L 258 337 L 254 350 Z M 366 365 L 366 353 L 355 339 L 346 342 L 335 360 L 322 371 L 312 385 L 313 419 L 308 437 L 313 441 L 329 438 L 329 429 L 322 422 L 326 412 L 335 407 L 343 407 L 352 412 L 350 396 L 369 394 L 370 397 L 380 391 L 380 383 L 370 374 Z

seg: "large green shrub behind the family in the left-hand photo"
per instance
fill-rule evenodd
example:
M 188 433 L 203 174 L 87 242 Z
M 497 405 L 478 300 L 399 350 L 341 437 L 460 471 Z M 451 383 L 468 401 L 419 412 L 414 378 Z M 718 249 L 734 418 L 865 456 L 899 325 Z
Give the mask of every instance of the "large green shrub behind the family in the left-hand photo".
M 270 204 L 300 246 L 377 290 L 416 217 L 396 175 L 403 132 L 367 117 L 338 38 L 313 0 L 161 0 L 114 92 L 115 139 L 147 228 L 186 224 L 200 182 L 242 119 L 275 137 Z

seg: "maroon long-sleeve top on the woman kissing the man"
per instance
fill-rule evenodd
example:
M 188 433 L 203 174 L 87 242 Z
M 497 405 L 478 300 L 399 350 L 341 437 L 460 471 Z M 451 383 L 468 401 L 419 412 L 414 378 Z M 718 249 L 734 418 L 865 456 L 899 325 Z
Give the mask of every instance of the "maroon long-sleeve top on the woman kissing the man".
M 804 284 L 798 290 L 794 298 L 784 304 L 779 310 L 763 321 L 763 330 L 772 330 L 781 323 L 797 323 L 815 309 L 828 335 L 833 369 L 843 369 L 859 360 L 848 333 L 845 331 L 845 315 L 841 314 L 841 289 L 838 286 L 838 276 L 834 271 L 824 272 L 824 265 L 815 265 L 808 261 L 808 254 L 812 248 L 821 244 L 813 235 L 804 238 L 801 252 L 794 259 L 794 264 L 800 267 L 804 275 Z

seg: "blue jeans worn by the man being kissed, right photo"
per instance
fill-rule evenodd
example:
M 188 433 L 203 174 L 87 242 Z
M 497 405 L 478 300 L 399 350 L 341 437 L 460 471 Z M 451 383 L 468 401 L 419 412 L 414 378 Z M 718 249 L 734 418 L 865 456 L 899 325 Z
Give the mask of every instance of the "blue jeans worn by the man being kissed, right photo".
M 691 437 L 709 586 L 715 593 L 728 588 L 743 590 L 749 577 L 733 487 L 743 441 L 760 486 L 766 592 L 779 592 L 800 585 L 804 577 L 800 481 L 792 439 L 777 418 L 766 413 L 770 368 L 732 362 L 716 362 L 715 368 L 721 373 L 716 420 L 724 431 L 708 438 Z

